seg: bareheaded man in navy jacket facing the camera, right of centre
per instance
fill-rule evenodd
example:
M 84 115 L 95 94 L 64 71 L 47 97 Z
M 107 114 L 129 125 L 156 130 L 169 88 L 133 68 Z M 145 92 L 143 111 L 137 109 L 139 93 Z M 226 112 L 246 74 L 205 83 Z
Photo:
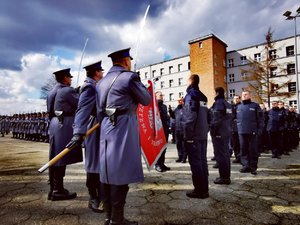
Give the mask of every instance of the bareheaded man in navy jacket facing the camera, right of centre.
M 241 146 L 241 173 L 256 175 L 258 163 L 257 134 L 263 129 L 260 106 L 251 101 L 250 92 L 242 92 L 242 104 L 237 107 L 237 127 Z

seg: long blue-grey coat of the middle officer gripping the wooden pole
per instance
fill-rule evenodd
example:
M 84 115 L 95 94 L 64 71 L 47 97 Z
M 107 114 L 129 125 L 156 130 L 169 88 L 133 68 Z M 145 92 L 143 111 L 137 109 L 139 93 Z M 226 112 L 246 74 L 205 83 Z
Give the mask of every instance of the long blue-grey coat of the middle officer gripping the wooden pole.
M 98 123 L 96 118 L 96 81 L 87 77 L 80 92 L 73 125 L 73 134 L 85 134 Z M 99 140 L 99 128 L 84 140 L 85 170 L 88 173 L 99 173 Z

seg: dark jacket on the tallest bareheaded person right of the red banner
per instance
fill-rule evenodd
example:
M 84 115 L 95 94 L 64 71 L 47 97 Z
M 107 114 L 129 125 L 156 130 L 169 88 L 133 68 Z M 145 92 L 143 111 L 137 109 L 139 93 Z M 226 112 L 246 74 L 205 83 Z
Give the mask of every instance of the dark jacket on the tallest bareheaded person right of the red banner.
M 208 130 L 207 97 L 198 87 L 189 86 L 184 98 L 183 137 L 185 140 L 206 140 Z

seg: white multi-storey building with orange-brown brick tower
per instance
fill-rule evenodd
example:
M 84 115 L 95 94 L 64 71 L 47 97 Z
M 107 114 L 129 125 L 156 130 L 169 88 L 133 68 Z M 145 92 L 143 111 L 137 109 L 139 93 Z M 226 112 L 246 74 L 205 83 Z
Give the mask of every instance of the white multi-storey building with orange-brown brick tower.
M 297 36 L 299 43 L 299 36 Z M 271 97 L 272 100 L 283 100 L 288 105 L 297 106 L 296 97 L 296 59 L 295 38 L 287 37 L 272 42 L 273 48 L 268 52 L 276 61 L 270 67 L 269 79 L 274 83 L 287 83 L 280 89 L 292 93 L 289 97 Z M 161 91 L 166 105 L 173 108 L 177 100 L 186 93 L 187 79 L 190 74 L 199 74 L 200 90 L 208 97 L 208 105 L 214 101 L 214 88 L 222 86 L 227 90 L 230 101 L 234 95 L 240 95 L 243 89 L 249 89 L 249 72 L 252 61 L 263 62 L 267 52 L 265 43 L 226 51 L 227 45 L 214 34 L 209 34 L 189 41 L 190 54 L 168 61 L 159 62 L 140 68 L 141 80 L 156 80 L 155 91 Z M 298 45 L 299 46 L 299 45 Z M 297 48 L 299 52 L 299 47 Z M 253 93 L 257 100 L 259 93 Z M 266 103 L 266 99 L 264 99 Z

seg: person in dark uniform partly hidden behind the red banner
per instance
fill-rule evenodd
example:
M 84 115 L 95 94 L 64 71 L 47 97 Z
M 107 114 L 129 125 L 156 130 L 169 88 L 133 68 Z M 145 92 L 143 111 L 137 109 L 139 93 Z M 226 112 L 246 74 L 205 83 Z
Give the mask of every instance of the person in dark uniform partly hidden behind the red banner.
M 163 125 L 165 138 L 168 143 L 169 127 L 170 127 L 170 117 L 168 115 L 168 109 L 167 109 L 167 106 L 164 104 L 163 94 L 161 91 L 157 91 L 155 93 L 155 97 L 156 97 L 157 104 L 158 104 L 159 115 L 160 115 L 160 119 L 161 119 L 161 122 Z M 155 164 L 155 170 L 158 172 L 165 172 L 165 171 L 170 170 L 170 167 L 165 165 L 166 151 L 167 151 L 167 149 L 163 150 L 163 152 L 161 153 L 160 157 L 158 158 L 158 160 Z

